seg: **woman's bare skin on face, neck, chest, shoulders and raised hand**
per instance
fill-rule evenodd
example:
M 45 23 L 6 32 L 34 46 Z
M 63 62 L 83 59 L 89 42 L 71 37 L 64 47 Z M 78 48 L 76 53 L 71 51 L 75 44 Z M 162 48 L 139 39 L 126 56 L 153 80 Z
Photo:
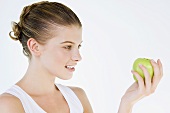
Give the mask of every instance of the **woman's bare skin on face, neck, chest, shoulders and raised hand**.
M 45 45 L 39 44 L 33 38 L 27 42 L 32 54 L 24 77 L 16 83 L 25 90 L 36 103 L 48 113 L 69 113 L 69 107 L 61 92 L 54 85 L 55 78 L 68 80 L 73 72 L 65 68 L 67 65 L 77 65 L 81 60 L 79 48 L 82 43 L 82 29 L 78 26 L 57 27 L 57 34 Z M 69 41 L 69 42 L 68 42 Z M 133 83 L 122 97 L 118 113 L 131 113 L 133 105 L 145 96 L 152 94 L 163 75 L 160 60 L 151 61 L 154 77 L 151 80 L 146 68 L 145 80 L 137 72 L 132 73 L 138 82 Z M 40 79 L 41 78 L 41 79 Z M 92 107 L 83 89 L 70 87 L 80 99 L 84 113 L 93 113 Z M 56 101 L 57 100 L 57 101 Z M 17 109 L 16 109 L 17 108 Z M 24 113 L 20 100 L 10 94 L 0 96 L 1 113 Z

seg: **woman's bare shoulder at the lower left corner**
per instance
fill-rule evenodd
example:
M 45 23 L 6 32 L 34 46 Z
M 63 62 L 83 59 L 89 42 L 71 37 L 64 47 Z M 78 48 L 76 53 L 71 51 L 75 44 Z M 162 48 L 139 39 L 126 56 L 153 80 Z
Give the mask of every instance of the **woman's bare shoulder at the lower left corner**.
M 4 93 L 0 95 L 0 113 L 24 113 L 24 109 L 17 97 Z

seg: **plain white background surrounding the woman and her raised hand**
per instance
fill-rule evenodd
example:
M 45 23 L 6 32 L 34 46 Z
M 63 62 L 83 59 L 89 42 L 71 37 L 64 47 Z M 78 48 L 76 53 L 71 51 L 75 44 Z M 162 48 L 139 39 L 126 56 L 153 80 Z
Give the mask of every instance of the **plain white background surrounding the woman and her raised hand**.
M 56 0 L 57 1 L 57 0 Z M 36 0 L 0 1 L 0 93 L 25 73 L 28 62 L 19 42 L 8 36 L 11 21 Z M 169 113 L 170 1 L 59 0 L 83 24 L 83 60 L 74 77 L 58 83 L 83 88 L 95 113 L 116 113 L 126 89 L 134 82 L 131 68 L 138 57 L 162 60 L 164 77 L 156 92 L 139 101 L 133 113 Z

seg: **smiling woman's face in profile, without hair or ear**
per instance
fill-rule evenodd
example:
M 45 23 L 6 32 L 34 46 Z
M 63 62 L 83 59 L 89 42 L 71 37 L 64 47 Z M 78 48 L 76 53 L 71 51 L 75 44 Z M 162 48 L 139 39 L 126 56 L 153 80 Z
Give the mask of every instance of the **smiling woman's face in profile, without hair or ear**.
M 57 33 L 43 45 L 40 62 L 50 75 L 70 79 L 75 66 L 81 60 L 79 48 L 82 43 L 82 28 L 77 26 L 57 28 Z

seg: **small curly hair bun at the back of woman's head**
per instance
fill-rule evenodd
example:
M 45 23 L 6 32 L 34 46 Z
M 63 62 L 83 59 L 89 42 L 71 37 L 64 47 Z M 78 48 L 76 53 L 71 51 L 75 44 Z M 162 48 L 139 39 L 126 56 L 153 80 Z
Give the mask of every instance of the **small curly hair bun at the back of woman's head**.
M 16 22 L 11 22 L 11 26 L 12 26 L 12 31 L 10 31 L 9 32 L 9 36 L 13 39 L 13 40 L 15 40 L 15 41 L 17 41 L 17 40 L 19 40 L 19 37 L 20 37 L 20 26 L 18 25 L 18 23 L 16 23 Z

